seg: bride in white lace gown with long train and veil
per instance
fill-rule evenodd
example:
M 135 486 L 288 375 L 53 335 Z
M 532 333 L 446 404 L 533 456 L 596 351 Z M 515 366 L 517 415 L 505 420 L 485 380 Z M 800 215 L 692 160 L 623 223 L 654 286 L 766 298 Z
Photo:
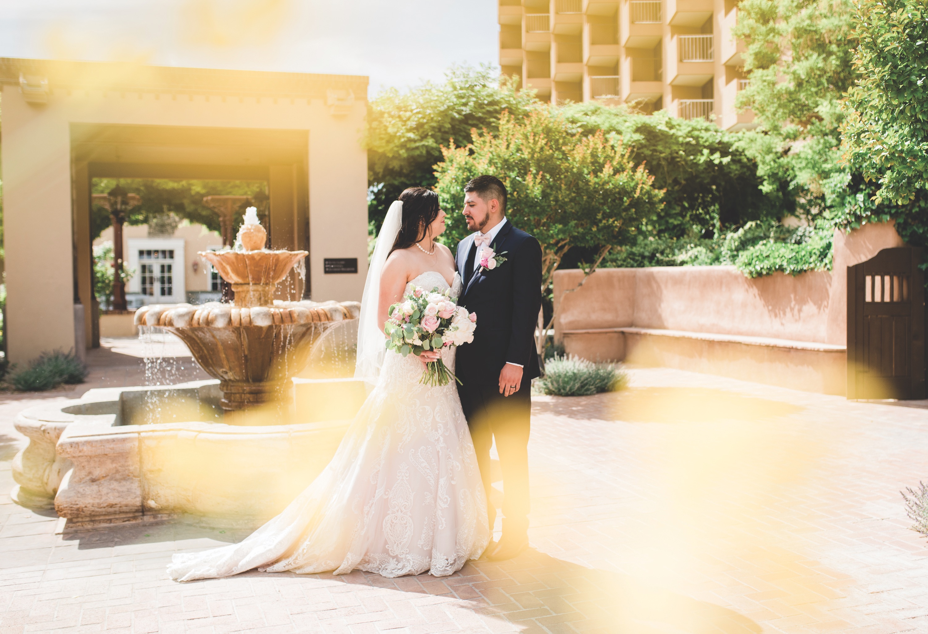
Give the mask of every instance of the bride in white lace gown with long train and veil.
M 443 231 L 445 212 L 432 190 L 408 188 L 393 202 L 367 273 L 358 330 L 355 376 L 376 377 L 376 385 L 335 456 L 251 536 L 175 554 L 168 575 L 189 581 L 258 568 L 445 576 L 481 555 L 489 542 L 486 496 L 456 384 L 419 383 L 428 357 L 386 351 L 382 330 L 387 309 L 410 286 L 460 294 L 454 257 L 434 240 Z M 453 369 L 454 347 L 442 355 Z

